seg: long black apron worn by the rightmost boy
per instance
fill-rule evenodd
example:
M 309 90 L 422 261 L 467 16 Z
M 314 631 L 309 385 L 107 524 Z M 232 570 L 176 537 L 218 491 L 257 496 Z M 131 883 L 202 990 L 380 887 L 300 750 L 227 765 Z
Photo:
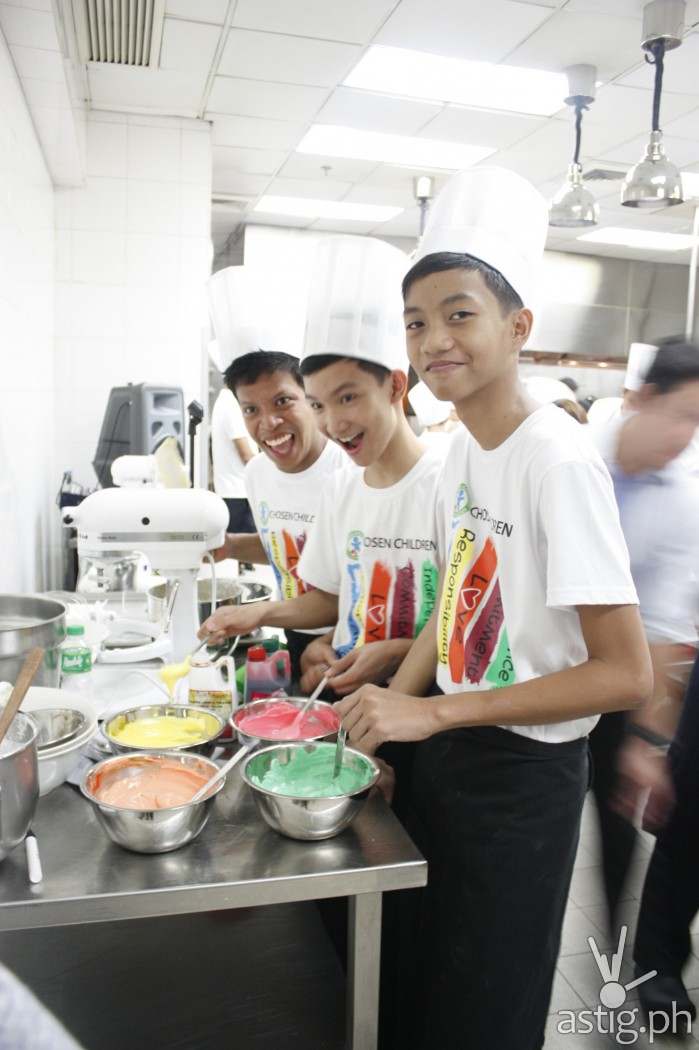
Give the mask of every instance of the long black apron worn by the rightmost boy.
M 393 972 L 383 974 L 382 1046 L 538 1050 L 588 788 L 587 740 L 459 730 L 418 744 L 412 773 L 406 824 L 428 884 L 388 895 L 403 898 L 404 917 L 394 917 Z

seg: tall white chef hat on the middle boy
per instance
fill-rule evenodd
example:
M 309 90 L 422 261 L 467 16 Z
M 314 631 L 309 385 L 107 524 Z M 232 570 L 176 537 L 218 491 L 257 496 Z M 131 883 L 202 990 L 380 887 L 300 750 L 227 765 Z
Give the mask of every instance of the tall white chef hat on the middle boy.
M 401 281 L 407 256 L 376 237 L 323 237 L 301 360 L 337 354 L 407 372 Z

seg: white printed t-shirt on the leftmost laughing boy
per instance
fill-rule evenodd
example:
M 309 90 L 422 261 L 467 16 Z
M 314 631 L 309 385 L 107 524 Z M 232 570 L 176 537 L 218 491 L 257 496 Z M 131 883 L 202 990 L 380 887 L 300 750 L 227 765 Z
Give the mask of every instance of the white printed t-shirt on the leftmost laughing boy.
M 316 519 L 323 490 L 337 472 L 353 469 L 350 459 L 332 441 L 308 470 L 285 474 L 264 453 L 250 460 L 245 483 L 255 527 L 267 551 L 279 597 L 298 597 L 309 589 L 298 574 L 298 562 Z M 333 627 L 306 634 L 324 634 Z

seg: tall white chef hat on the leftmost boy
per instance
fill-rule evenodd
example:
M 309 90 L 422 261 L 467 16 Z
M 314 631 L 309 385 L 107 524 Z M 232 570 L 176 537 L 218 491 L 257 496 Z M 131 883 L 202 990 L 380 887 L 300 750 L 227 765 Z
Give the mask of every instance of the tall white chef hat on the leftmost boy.
M 270 306 L 264 306 L 261 280 L 254 279 L 246 267 L 231 266 L 214 273 L 207 281 L 207 297 L 221 372 L 256 351 L 291 353 L 269 324 Z

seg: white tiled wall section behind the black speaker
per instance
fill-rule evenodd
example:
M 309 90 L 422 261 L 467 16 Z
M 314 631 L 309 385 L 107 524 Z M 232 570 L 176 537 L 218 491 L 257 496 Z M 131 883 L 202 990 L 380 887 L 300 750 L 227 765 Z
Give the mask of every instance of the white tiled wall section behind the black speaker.
M 112 386 L 203 401 L 210 227 L 208 123 L 88 114 L 86 185 L 56 191 L 56 456 L 83 484 Z

